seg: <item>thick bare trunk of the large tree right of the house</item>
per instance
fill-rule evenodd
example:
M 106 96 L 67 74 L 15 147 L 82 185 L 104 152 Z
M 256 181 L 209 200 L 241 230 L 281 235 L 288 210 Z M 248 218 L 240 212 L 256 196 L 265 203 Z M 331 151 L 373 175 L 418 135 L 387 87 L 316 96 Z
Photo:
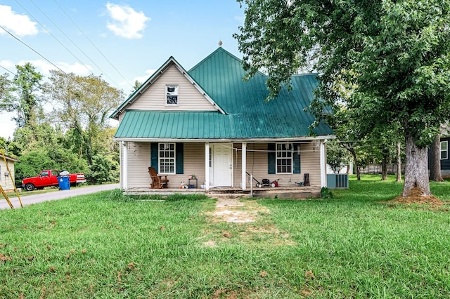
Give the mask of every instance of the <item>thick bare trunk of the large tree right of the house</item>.
M 421 195 L 431 195 L 430 181 L 428 180 L 428 149 L 418 147 L 411 134 L 405 133 L 405 182 L 403 197 L 408 197 L 414 188 Z

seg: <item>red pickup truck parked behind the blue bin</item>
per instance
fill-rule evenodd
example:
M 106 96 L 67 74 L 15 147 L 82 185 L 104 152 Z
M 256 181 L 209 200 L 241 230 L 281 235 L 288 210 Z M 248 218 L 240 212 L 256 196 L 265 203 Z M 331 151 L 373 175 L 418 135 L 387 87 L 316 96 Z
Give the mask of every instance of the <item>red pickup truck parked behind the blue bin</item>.
M 67 172 L 66 172 L 67 173 Z M 44 187 L 49 186 L 58 186 L 58 177 L 60 176 L 60 172 L 56 170 L 46 170 L 41 171 L 38 176 L 33 178 L 24 178 L 22 180 L 22 189 L 27 191 L 33 191 L 36 189 L 43 189 Z M 72 173 L 69 174 L 70 185 L 77 185 L 78 183 L 86 182 L 86 178 L 84 178 L 84 173 Z

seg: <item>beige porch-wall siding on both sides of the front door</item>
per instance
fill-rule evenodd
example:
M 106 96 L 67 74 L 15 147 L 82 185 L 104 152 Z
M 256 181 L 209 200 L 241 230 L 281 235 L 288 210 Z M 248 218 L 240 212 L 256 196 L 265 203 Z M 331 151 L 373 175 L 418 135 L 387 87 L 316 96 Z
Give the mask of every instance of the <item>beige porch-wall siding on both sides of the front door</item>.
M 233 186 L 240 187 L 242 169 L 242 147 L 240 143 L 233 144 Z M 150 142 L 128 142 L 128 187 L 150 187 Z M 268 174 L 267 145 L 264 143 L 249 143 L 247 145 L 247 171 L 262 182 L 263 178 L 278 180 L 278 185 L 295 185 L 304 180 L 304 173 L 309 173 L 311 185 L 320 185 L 320 152 L 319 142 L 302 143 L 300 153 L 301 173 Z M 169 188 L 178 188 L 181 182 L 188 183 L 188 175 L 195 174 L 198 187 L 205 182 L 205 143 L 184 144 L 184 173 L 168 175 Z M 251 182 L 255 186 L 255 181 Z M 247 187 L 250 187 L 250 176 L 247 177 Z

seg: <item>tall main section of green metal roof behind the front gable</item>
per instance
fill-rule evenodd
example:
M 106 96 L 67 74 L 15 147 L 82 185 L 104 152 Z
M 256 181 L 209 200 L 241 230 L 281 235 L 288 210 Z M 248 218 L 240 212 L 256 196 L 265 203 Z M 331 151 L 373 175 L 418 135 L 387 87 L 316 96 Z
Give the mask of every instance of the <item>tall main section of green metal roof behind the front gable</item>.
M 277 98 L 265 101 L 269 90 L 268 77 L 257 72 L 255 77 L 243 81 L 245 70 L 242 61 L 224 48 L 217 48 L 207 58 L 189 70 L 189 74 L 229 114 L 240 114 L 248 120 L 248 126 L 266 130 L 268 135 L 291 131 L 296 137 L 308 135 L 309 125 L 314 121 L 304 111 L 314 98 L 318 85 L 317 74 L 299 74 L 291 77 L 293 91 L 281 88 Z M 295 129 L 296 128 L 296 129 Z M 328 126 L 315 129 L 317 135 L 333 134 Z

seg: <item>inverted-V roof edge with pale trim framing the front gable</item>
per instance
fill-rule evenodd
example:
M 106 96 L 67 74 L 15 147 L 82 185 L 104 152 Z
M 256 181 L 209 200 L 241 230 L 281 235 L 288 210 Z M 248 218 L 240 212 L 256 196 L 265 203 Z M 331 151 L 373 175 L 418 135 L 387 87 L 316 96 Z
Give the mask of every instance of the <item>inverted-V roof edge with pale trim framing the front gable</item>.
M 214 107 L 216 107 L 217 110 L 219 110 L 219 112 L 225 114 L 225 112 L 216 105 L 212 98 L 210 98 L 210 96 L 207 95 L 205 91 L 203 91 L 203 89 L 197 84 L 197 82 L 195 82 L 195 80 L 191 76 L 189 76 L 188 72 L 186 72 L 186 70 L 175 60 L 175 58 L 173 56 L 170 56 L 170 58 L 159 69 L 157 69 L 156 72 L 154 72 L 141 86 L 139 86 L 139 88 L 137 88 L 134 93 L 131 93 L 131 95 L 129 95 L 127 100 L 125 100 L 122 105 L 120 105 L 120 107 L 115 109 L 113 114 L 110 115 L 110 118 L 118 120 L 119 114 L 124 112 L 124 110 L 127 109 L 129 105 L 137 100 L 139 98 L 139 95 L 144 93 L 156 80 L 158 80 L 158 78 L 161 77 L 161 75 L 164 74 L 164 72 L 169 69 L 171 65 L 174 65 L 179 70 L 179 72 L 181 72 L 181 74 L 183 74 L 184 77 L 186 77 L 186 79 L 190 81 L 191 84 L 195 86 L 195 88 L 198 89 L 199 93 L 202 94 L 206 98 L 206 100 L 210 102 Z

